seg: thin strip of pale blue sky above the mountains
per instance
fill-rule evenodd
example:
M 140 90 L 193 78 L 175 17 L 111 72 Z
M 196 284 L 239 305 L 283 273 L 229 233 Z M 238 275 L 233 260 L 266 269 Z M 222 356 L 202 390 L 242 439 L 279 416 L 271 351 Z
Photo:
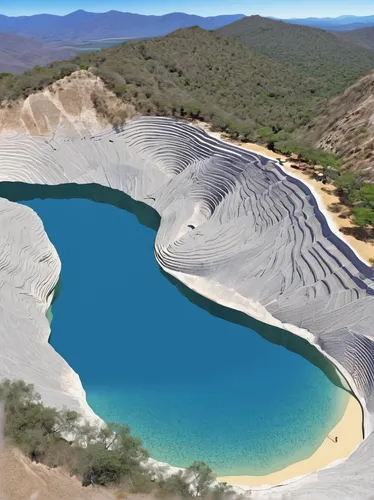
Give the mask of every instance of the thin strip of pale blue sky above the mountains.
M 12 16 L 38 14 L 67 14 L 85 9 L 105 12 L 116 9 L 139 14 L 188 12 L 203 16 L 217 14 L 260 14 L 287 17 L 337 17 L 345 14 L 374 14 L 374 0 L 12 0 L 1 2 L 0 13 Z

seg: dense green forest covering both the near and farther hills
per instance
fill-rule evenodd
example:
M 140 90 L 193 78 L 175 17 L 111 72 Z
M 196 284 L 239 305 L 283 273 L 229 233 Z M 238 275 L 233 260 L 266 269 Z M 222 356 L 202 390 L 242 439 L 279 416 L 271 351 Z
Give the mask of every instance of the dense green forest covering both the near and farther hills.
M 238 31 L 247 43 L 242 34 L 253 19 L 265 33 L 263 42 L 251 44 L 255 50 L 218 32 L 186 28 L 36 66 L 19 76 L 0 75 L 0 101 L 26 97 L 79 68 L 90 69 L 142 114 L 197 118 L 240 139 L 267 141 L 274 135 L 282 141 L 310 121 L 317 103 L 374 67 L 374 52 L 369 57 L 321 30 L 257 17 L 223 30 Z M 276 37 L 264 31 L 264 22 L 287 27 L 286 46 L 279 41 L 282 30 Z M 299 36 L 303 30 L 305 36 Z M 336 42 L 330 46 L 331 37 Z M 105 114 L 100 96 L 94 97 Z

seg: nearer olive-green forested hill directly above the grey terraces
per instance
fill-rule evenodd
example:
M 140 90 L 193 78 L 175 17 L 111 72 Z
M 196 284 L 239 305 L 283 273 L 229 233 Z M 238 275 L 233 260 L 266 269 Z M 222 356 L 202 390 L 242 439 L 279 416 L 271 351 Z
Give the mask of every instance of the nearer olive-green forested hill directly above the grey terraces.
M 0 100 L 27 97 L 79 68 L 90 68 L 140 113 L 199 118 L 251 140 L 263 127 L 291 132 L 307 123 L 316 101 L 309 79 L 196 27 L 2 78 Z M 93 99 L 105 114 L 100 95 Z

